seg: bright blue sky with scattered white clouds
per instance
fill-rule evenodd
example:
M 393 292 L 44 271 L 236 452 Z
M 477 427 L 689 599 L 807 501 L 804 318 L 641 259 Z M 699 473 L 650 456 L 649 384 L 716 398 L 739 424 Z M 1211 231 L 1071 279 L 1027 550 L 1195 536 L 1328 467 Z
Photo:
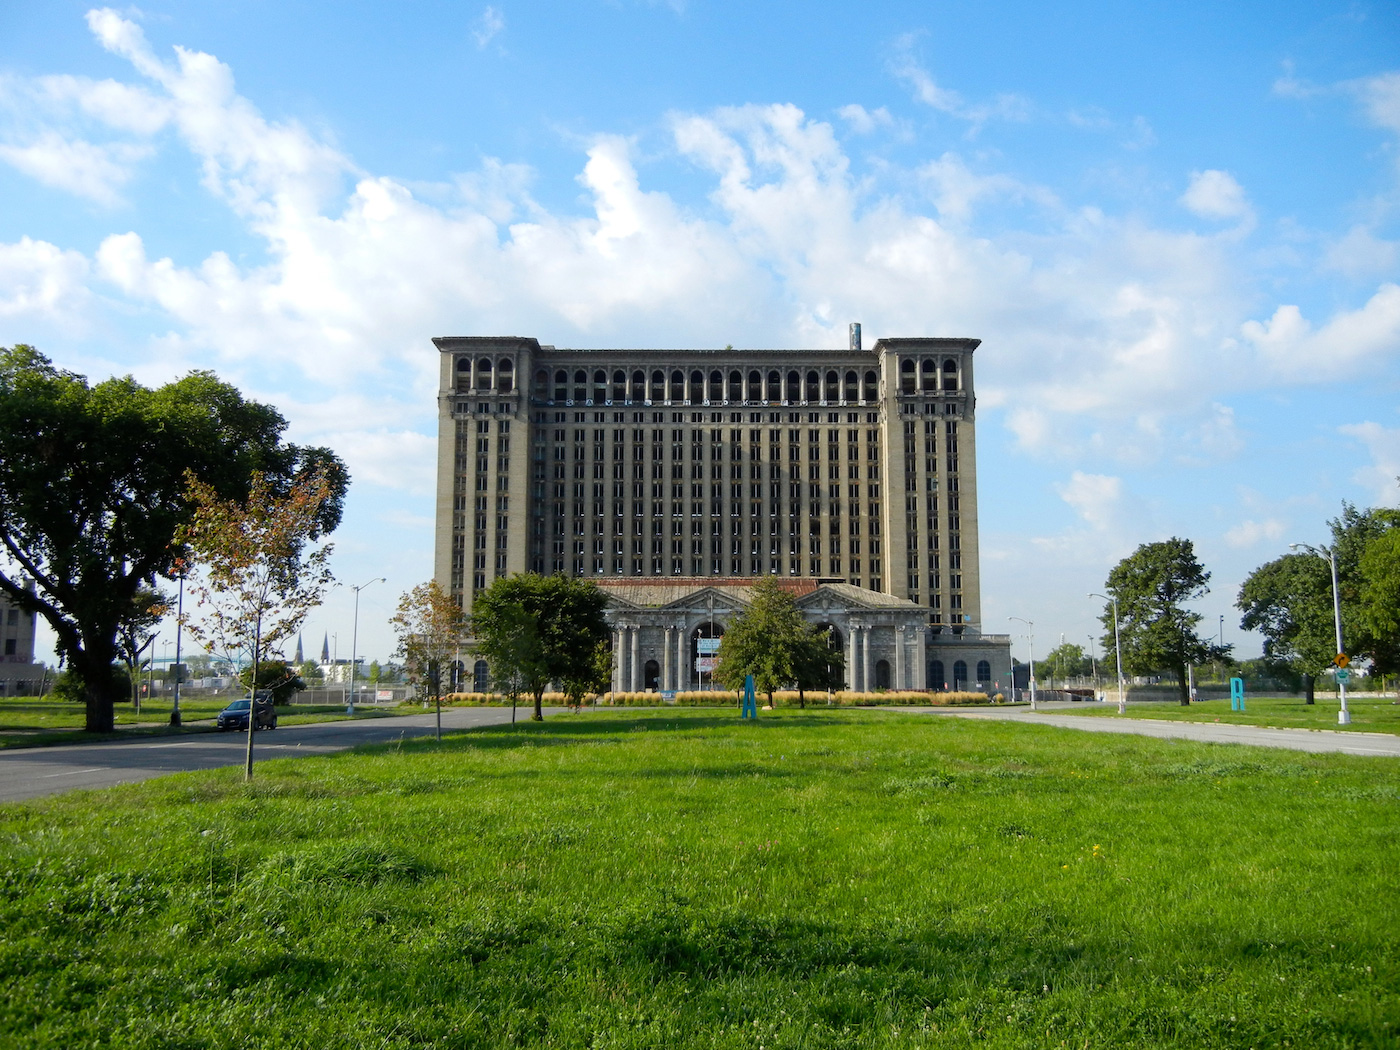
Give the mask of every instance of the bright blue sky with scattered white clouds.
M 431 336 L 850 321 L 983 340 L 987 630 L 1086 644 L 1182 535 L 1256 655 L 1239 581 L 1400 497 L 1400 4 L 0 6 L 0 344 L 340 451 L 371 657 L 431 573 Z

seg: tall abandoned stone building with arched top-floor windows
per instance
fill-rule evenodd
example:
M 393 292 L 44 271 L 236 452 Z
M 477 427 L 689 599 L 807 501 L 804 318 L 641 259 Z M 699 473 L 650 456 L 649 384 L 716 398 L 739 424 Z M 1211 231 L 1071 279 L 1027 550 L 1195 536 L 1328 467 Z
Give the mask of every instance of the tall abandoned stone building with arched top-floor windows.
M 615 689 L 689 689 L 746 588 L 777 577 L 834 627 L 851 689 L 1009 685 L 1009 640 L 981 631 L 979 340 L 433 342 L 434 575 L 463 608 L 512 573 L 594 580 Z

